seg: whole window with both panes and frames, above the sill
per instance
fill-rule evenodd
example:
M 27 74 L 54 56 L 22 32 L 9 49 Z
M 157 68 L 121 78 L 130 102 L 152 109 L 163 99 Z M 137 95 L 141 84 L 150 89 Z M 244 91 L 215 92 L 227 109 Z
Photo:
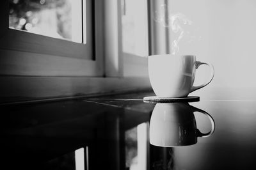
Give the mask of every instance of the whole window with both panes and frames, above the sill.
M 147 0 L 9 0 L 0 10 L 0 49 L 16 65 L 5 75 L 147 76 Z

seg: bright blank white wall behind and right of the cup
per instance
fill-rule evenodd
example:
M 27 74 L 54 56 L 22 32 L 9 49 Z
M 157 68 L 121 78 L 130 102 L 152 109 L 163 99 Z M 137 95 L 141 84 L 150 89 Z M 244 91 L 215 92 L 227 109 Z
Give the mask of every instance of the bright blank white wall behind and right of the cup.
M 209 86 L 256 86 L 255 0 L 170 0 L 169 3 L 172 13 L 183 13 L 193 21 L 195 35 L 201 37 L 190 44 L 180 41 L 180 53 L 196 54 L 198 60 L 214 65 L 216 74 Z M 200 71 L 197 75 L 204 74 Z

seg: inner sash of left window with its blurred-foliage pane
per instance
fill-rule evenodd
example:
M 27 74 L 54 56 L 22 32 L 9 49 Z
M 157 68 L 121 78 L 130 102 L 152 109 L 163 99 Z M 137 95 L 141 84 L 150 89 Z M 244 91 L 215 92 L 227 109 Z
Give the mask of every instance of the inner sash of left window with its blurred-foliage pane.
M 73 2 L 69 0 L 9 0 L 9 19 L 4 18 L 3 22 L 9 22 L 8 27 L 15 29 L 6 27 L 8 31 L 4 39 L 11 40 L 11 42 L 1 41 L 1 47 L 72 58 L 92 59 L 92 5 L 92 1 L 89 0 L 76 0 Z M 84 20 L 83 17 L 85 18 Z M 87 26 L 86 22 L 88 23 Z M 61 27 L 61 24 L 66 25 Z M 61 31 L 63 27 L 66 27 L 67 30 Z M 83 31 L 82 27 L 84 27 Z M 25 31 L 21 32 L 17 29 L 28 30 L 28 32 L 46 36 L 35 35 Z M 83 33 L 88 35 L 88 43 L 77 44 L 67 41 L 68 39 L 73 39 L 74 42 L 82 42 L 81 39 L 84 38 L 81 35 Z M 65 38 L 66 40 L 56 39 L 56 37 Z

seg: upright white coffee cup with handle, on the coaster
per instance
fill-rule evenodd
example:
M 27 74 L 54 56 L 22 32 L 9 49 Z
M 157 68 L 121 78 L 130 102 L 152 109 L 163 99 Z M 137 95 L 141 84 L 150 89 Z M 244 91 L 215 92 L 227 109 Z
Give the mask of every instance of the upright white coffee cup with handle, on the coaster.
M 200 65 L 208 65 L 211 75 L 204 84 L 193 86 L 195 70 Z M 212 81 L 214 68 L 210 63 L 196 61 L 196 56 L 193 55 L 161 54 L 148 56 L 148 74 L 157 97 L 187 97 L 192 91 L 203 88 Z

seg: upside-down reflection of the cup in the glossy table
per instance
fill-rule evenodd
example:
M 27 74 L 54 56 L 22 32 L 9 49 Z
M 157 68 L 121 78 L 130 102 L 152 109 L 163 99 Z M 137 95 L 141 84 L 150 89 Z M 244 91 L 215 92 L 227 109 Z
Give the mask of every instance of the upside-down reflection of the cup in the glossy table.
M 205 114 L 211 121 L 211 130 L 202 133 L 196 128 L 193 112 Z M 210 114 L 188 103 L 157 103 L 150 118 L 150 144 L 162 147 L 188 146 L 197 143 L 197 137 L 209 137 L 215 129 Z

